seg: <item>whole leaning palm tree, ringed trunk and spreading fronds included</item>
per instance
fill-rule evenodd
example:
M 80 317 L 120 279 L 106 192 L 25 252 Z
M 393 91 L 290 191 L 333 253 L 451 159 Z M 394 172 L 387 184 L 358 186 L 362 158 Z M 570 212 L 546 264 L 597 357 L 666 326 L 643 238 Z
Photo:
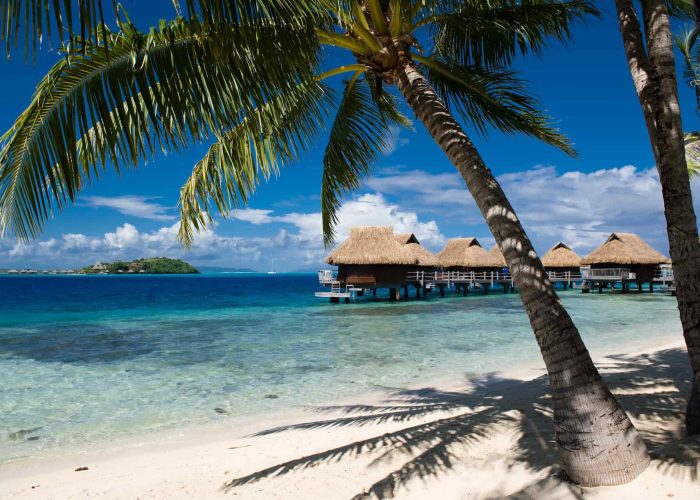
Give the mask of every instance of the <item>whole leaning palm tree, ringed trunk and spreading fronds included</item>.
M 549 372 L 564 471 L 584 485 L 627 482 L 646 468 L 646 448 L 457 120 L 573 154 L 508 66 L 595 13 L 587 0 L 189 0 L 187 16 L 148 33 L 128 19 L 115 32 L 93 20 L 92 34 L 72 40 L 3 137 L 0 225 L 34 237 L 108 165 L 135 167 L 154 151 L 214 136 L 181 190 L 187 244 L 214 210 L 244 204 L 298 157 L 335 102 L 324 82 L 347 74 L 323 160 L 330 243 L 343 194 L 367 174 L 391 127 L 409 123 L 395 88 L 464 178 L 508 262 Z M 13 22 L 0 18 L 3 26 L 24 19 L 6 17 Z M 347 64 L 321 72 L 324 46 Z

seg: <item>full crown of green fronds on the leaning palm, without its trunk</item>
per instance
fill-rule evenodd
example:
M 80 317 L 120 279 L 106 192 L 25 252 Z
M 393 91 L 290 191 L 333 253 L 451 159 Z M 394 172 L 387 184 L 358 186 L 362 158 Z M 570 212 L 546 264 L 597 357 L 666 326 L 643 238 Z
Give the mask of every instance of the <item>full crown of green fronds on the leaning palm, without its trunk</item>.
M 215 210 L 244 205 L 330 130 L 321 181 L 330 243 L 345 193 L 359 186 L 392 130 L 410 126 L 388 90 L 399 56 L 388 40 L 477 131 L 522 132 L 572 153 L 508 65 L 567 38 L 573 20 L 594 12 L 582 0 L 188 0 L 176 2 L 173 21 L 141 32 L 122 9 L 109 29 L 101 3 L 82 0 L 76 34 L 71 4 L 2 3 L 8 50 L 20 24 L 29 27 L 29 53 L 52 26 L 68 30 L 65 57 L 1 138 L 0 228 L 21 239 L 37 236 L 106 169 L 135 168 L 213 138 L 181 190 L 180 238 L 190 243 Z M 322 46 L 342 50 L 347 64 L 322 71 Z M 336 92 L 325 81 L 341 74 L 348 78 Z

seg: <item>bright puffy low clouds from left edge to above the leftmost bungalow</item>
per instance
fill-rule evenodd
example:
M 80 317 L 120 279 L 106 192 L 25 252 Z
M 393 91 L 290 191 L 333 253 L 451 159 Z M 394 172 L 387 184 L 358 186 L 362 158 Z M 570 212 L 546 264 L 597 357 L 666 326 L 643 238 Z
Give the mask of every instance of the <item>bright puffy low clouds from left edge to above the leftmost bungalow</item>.
M 392 225 L 397 232 L 416 233 L 428 245 L 439 245 L 443 235 L 435 221 L 423 222 L 415 212 L 402 210 L 379 194 L 366 194 L 346 202 L 338 212 L 339 239 L 356 225 Z M 64 234 L 29 244 L 0 240 L 0 267 L 79 267 L 97 260 L 114 261 L 138 257 L 181 257 L 200 265 L 266 269 L 269 261 L 281 270 L 321 265 L 327 251 L 323 246 L 320 213 L 275 215 L 272 210 L 236 211 L 234 217 L 251 224 L 276 224 L 272 237 L 224 236 L 219 227 L 197 234 L 189 250 L 177 240 L 179 222 L 155 231 L 143 232 L 130 223 L 102 236 Z M 235 225 L 232 226 L 235 229 Z

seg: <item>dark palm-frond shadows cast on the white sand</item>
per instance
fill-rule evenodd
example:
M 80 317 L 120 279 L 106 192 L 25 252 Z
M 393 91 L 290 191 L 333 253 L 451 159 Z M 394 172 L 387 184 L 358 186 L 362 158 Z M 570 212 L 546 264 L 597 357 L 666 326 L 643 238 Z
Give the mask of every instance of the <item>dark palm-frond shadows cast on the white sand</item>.
M 680 445 L 675 442 L 681 437 L 679 428 L 690 390 L 691 373 L 686 352 L 670 349 L 653 355 L 609 356 L 597 365 L 623 408 L 634 418 L 654 459 L 651 467 L 665 475 L 697 480 L 700 440 L 685 440 Z M 678 370 L 678 367 L 687 368 Z M 369 467 L 403 457 L 401 466 L 355 497 L 390 498 L 411 481 L 439 478 L 449 472 L 463 458 L 458 450 L 468 449 L 494 437 L 495 433 L 510 429 L 519 431 L 519 438 L 509 467 L 524 466 L 537 472 L 549 470 L 544 480 L 510 496 L 533 498 L 566 487 L 568 493 L 578 497 L 581 488 L 556 479 L 558 460 L 547 388 L 546 376 L 527 382 L 492 376 L 464 392 L 434 388 L 394 390 L 381 405 L 319 408 L 317 411 L 321 413 L 340 413 L 341 416 L 266 429 L 256 436 L 384 422 L 409 425 L 258 470 L 226 482 L 221 489 L 228 492 L 266 478 L 365 454 L 374 457 Z M 523 393 L 534 397 L 520 398 Z M 527 403 L 524 405 L 523 401 Z M 431 417 L 434 418 L 426 422 Z M 658 421 L 669 425 L 660 427 L 656 425 Z M 674 444 L 667 446 L 669 443 Z

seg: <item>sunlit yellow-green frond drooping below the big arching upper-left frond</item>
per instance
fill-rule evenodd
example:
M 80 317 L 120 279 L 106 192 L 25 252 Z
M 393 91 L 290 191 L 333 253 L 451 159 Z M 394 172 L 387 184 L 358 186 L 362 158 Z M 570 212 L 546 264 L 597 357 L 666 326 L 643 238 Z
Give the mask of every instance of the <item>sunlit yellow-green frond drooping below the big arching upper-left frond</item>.
M 212 222 L 244 206 L 261 181 L 296 160 L 326 118 L 332 91 L 312 80 L 271 99 L 221 134 L 180 190 L 180 230 L 186 245 Z

